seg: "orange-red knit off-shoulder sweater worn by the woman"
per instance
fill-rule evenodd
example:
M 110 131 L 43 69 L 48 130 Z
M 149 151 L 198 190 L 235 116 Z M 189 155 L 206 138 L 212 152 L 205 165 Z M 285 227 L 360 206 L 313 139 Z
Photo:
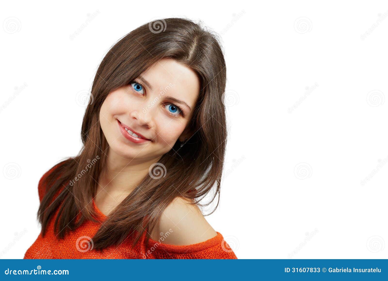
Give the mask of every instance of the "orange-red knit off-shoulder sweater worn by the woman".
M 40 201 L 42 201 L 45 190 L 42 186 L 42 179 L 54 168 L 55 166 L 47 171 L 39 181 L 38 194 Z M 76 230 L 66 235 L 64 239 L 58 240 L 54 234 L 54 219 L 51 219 L 45 236 L 42 237 L 42 232 L 39 234 L 36 241 L 26 251 L 24 258 L 237 258 L 219 232 L 217 232 L 217 236 L 204 242 L 185 246 L 164 244 L 162 243 L 164 238 L 161 234 L 159 241 L 149 239 L 148 247 L 145 246 L 146 233 L 144 232 L 133 250 L 131 249 L 133 236 L 128 236 L 119 246 L 110 246 L 101 253 L 93 249 L 92 237 L 107 217 L 97 208 L 94 200 L 93 206 L 97 212 L 96 218 L 99 223 L 87 220 Z M 58 211 L 59 208 L 55 216 Z

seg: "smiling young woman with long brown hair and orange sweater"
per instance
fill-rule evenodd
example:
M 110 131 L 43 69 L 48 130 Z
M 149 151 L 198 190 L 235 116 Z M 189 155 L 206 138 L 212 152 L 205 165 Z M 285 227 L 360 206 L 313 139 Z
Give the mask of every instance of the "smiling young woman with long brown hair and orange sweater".
M 39 181 L 42 232 L 24 258 L 237 258 L 199 209 L 220 192 L 225 83 L 218 40 L 190 20 L 117 42 L 95 75 L 82 150 Z

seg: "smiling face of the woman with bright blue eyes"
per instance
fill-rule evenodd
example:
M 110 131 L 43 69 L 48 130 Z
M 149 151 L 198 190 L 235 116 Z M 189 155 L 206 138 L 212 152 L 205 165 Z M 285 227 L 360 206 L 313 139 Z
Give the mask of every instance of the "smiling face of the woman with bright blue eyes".
M 165 58 L 109 93 L 99 116 L 109 149 L 127 159 L 159 159 L 178 138 L 190 137 L 199 87 L 194 71 Z

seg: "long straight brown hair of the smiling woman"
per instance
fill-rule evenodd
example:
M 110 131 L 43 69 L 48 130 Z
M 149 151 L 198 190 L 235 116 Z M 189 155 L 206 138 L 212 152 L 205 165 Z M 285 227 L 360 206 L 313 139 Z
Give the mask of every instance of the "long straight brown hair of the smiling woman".
M 135 246 L 144 229 L 149 238 L 162 210 L 176 197 L 186 197 L 192 199 L 193 204 L 207 206 L 218 194 L 217 205 L 211 213 L 215 211 L 227 140 L 223 103 L 226 66 L 217 34 L 201 25 L 201 22 L 182 18 L 154 20 L 128 33 L 107 52 L 95 75 L 92 99 L 83 117 L 81 151 L 76 157 L 54 166 L 52 173 L 42 179 L 46 190 L 38 219 L 43 236 L 57 208 L 54 232 L 59 239 L 84 220 L 96 222 L 92 198 L 108 148 L 99 122 L 100 107 L 109 93 L 127 85 L 162 58 L 175 59 L 199 77 L 200 93 L 189 123 L 194 134 L 183 147 L 177 141 L 161 157 L 158 165 L 166 167 L 166 176 L 145 176 L 111 212 L 104 226 L 92 237 L 94 248 L 102 250 L 118 245 L 128 235 L 137 233 L 132 245 Z M 85 167 L 89 167 L 86 172 Z M 87 175 L 82 176 L 85 173 Z M 212 188 L 215 192 L 210 202 L 200 204 Z M 192 189 L 196 190 L 187 193 Z M 57 192 L 59 195 L 55 197 Z

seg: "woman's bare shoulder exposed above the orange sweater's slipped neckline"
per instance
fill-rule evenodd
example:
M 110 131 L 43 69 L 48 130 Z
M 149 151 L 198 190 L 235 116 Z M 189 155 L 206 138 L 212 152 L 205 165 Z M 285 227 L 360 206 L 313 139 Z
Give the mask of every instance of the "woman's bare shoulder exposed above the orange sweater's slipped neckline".
M 158 241 L 163 233 L 164 244 L 190 245 L 217 236 L 198 206 L 190 203 L 189 199 L 175 198 L 163 211 L 151 238 Z

